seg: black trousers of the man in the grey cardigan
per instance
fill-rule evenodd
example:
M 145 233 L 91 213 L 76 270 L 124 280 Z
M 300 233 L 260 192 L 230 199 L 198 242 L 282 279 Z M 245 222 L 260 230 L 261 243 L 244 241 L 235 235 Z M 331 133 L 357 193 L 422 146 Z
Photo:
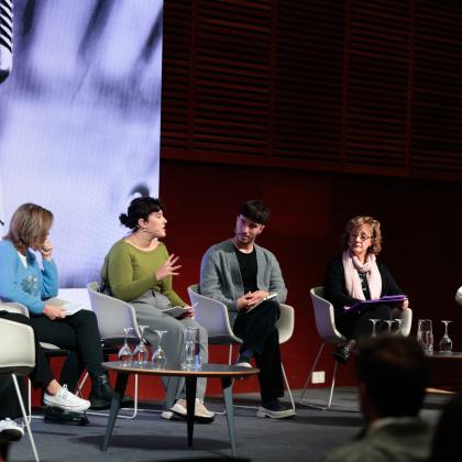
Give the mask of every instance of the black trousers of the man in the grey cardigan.
M 260 369 L 263 403 L 284 396 L 279 336 L 275 327 L 278 318 L 279 304 L 267 300 L 250 312 L 240 312 L 234 321 L 234 332 L 243 340 L 241 352 L 251 351 Z

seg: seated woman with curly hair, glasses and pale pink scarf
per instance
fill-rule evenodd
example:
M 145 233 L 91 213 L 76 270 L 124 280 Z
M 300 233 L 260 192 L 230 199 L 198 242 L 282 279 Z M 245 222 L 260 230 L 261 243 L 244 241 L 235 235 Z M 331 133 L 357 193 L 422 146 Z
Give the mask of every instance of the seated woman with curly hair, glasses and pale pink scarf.
M 374 304 L 360 311 L 345 311 L 344 307 L 386 295 L 402 295 L 386 266 L 376 261 L 382 250 L 381 223 L 372 217 L 354 217 L 345 227 L 343 253 L 333 258 L 324 277 L 324 298 L 334 307 L 336 327 L 346 337 L 332 353 L 337 361 L 346 363 L 356 341 L 372 333 L 371 319 L 378 319 L 377 330 L 383 321 L 392 319 L 392 309 L 405 309 L 408 300 L 400 305 Z

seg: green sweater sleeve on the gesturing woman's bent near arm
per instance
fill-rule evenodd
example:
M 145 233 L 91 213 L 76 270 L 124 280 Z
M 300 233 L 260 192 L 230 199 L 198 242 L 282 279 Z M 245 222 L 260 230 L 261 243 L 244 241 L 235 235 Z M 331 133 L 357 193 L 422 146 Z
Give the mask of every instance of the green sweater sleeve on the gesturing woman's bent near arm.
M 112 248 L 107 267 L 112 295 L 121 300 L 134 300 L 158 284 L 154 271 L 133 280 L 132 258 L 124 245 Z

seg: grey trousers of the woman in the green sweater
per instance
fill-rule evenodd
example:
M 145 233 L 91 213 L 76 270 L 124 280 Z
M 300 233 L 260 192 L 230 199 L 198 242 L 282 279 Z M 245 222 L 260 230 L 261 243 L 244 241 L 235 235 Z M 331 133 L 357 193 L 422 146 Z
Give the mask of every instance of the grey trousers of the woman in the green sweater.
M 153 349 L 158 345 L 158 336 L 154 330 L 166 330 L 162 337 L 162 348 L 167 358 L 167 364 L 179 367 L 183 359 L 185 343 L 185 331 L 188 327 L 199 328 L 199 348 L 202 364 L 209 361 L 208 336 L 207 331 L 199 326 L 193 318 L 176 319 L 161 311 L 169 306 L 167 297 L 154 290 L 148 290 L 141 297 L 131 301 L 140 326 L 148 326 L 144 329 L 144 338 L 151 343 Z M 166 389 L 164 408 L 169 409 L 176 399 L 185 397 L 185 378 L 163 377 L 162 382 Z M 197 380 L 196 396 L 204 402 L 206 394 L 207 378 Z

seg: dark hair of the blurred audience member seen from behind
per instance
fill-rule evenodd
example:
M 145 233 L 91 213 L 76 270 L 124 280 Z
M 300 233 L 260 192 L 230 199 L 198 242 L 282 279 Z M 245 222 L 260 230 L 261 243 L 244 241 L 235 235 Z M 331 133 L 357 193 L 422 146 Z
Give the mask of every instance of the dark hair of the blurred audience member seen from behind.
M 383 336 L 359 348 L 358 378 L 380 417 L 417 416 L 427 385 L 427 359 L 416 339 Z

